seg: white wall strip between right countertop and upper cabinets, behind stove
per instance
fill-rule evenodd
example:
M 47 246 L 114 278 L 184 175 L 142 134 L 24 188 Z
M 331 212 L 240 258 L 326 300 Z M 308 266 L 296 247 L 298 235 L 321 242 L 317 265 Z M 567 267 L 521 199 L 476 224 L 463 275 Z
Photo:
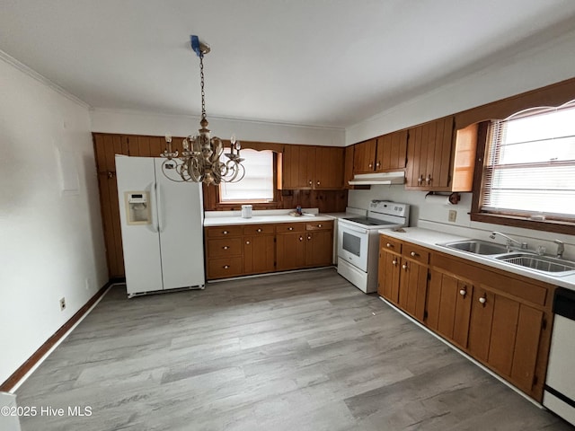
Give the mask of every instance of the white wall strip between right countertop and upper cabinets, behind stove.
M 556 251 L 557 245 L 553 244 L 553 240 L 558 239 L 565 242 L 565 258 L 575 259 L 575 236 L 532 231 L 500 224 L 472 222 L 469 216 L 472 200 L 471 193 L 460 193 L 461 200 L 457 205 L 430 203 L 425 200 L 426 194 L 427 192 L 425 191 L 406 191 L 403 186 L 371 186 L 371 189 L 368 190 L 349 190 L 348 206 L 367 209 L 371 199 L 403 202 L 411 204 L 411 226 L 420 226 L 469 238 L 505 243 L 505 240 L 500 236 L 496 236 L 495 240 L 489 238 L 492 231 L 498 231 L 509 234 L 517 238 L 517 240 L 527 242 L 532 250 L 536 250 L 538 245 L 543 245 L 548 253 Z M 447 221 L 450 210 L 457 212 L 455 223 Z

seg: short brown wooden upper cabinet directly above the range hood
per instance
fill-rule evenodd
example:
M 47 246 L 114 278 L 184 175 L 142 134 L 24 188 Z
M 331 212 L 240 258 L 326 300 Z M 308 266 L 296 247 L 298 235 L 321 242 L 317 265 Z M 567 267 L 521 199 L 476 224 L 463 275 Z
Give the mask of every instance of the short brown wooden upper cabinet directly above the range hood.
M 407 130 L 388 133 L 354 145 L 353 172 L 385 172 L 405 168 Z

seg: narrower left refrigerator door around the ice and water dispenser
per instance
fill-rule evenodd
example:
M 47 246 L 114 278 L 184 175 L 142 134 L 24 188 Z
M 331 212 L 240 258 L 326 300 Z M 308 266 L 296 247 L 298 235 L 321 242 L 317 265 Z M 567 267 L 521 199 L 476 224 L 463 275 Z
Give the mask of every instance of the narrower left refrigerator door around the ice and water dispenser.
M 119 219 L 122 231 L 124 266 L 128 295 L 162 290 L 160 241 L 155 211 L 155 172 L 151 157 L 116 156 Z M 128 195 L 149 194 L 151 220 L 149 224 L 128 224 Z

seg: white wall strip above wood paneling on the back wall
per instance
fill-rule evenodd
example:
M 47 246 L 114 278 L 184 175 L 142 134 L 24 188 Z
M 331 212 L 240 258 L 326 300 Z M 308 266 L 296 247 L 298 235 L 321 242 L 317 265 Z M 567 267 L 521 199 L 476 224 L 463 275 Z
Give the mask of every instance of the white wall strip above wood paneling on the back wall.
M 199 117 L 150 114 L 128 110 L 92 110 L 93 132 L 133 135 L 173 136 L 196 135 Z M 212 136 L 228 139 L 235 135 L 240 141 L 275 142 L 280 144 L 345 145 L 343 128 L 314 128 L 258 121 L 217 119 L 208 116 Z

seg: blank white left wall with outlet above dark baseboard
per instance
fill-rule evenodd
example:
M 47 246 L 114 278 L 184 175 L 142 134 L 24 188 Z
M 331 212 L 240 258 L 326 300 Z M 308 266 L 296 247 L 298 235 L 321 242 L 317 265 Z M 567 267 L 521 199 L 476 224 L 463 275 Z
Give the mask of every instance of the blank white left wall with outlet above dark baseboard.
M 108 281 L 88 109 L 5 58 L 0 56 L 0 383 Z M 77 172 L 72 194 L 62 193 L 60 151 L 70 156 L 72 182 Z

